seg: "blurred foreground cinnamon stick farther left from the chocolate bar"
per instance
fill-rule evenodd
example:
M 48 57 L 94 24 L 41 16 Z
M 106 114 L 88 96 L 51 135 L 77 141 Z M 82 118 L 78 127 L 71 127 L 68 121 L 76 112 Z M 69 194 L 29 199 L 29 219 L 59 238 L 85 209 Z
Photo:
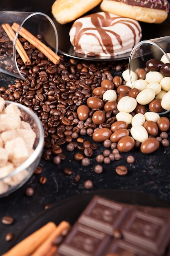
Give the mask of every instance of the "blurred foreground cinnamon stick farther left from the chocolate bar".
M 35 251 L 56 229 L 54 222 L 48 222 L 46 225 L 27 236 L 20 243 L 11 248 L 2 256 L 28 256 Z

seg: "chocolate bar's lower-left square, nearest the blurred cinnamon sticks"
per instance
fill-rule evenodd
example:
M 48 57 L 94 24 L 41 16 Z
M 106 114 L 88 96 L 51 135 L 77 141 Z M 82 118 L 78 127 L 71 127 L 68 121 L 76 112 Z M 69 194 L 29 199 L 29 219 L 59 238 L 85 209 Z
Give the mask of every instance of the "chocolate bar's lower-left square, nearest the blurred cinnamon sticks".
M 111 240 L 104 232 L 76 223 L 60 245 L 57 256 L 103 256 Z

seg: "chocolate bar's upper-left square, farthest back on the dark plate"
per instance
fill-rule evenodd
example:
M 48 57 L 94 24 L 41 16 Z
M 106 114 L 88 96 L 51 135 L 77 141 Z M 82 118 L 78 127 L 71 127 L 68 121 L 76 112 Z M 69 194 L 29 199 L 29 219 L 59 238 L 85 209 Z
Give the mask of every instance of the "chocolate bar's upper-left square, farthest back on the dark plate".
M 94 196 L 78 222 L 113 235 L 113 231 L 119 229 L 130 209 L 126 204 Z

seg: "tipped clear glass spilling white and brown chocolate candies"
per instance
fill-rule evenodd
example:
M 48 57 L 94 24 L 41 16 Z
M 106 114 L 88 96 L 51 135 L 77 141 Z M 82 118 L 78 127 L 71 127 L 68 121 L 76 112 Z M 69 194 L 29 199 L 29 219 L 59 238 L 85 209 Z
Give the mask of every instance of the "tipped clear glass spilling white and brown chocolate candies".
M 147 103 L 147 109 L 152 112 L 158 112 L 160 115 L 169 112 L 170 36 L 143 40 L 137 43 L 130 53 L 128 67 L 129 82 L 132 88 L 137 88 L 137 84 L 142 83 L 139 79 L 143 79 L 146 81 L 146 87 L 144 86 L 142 90 L 146 88 L 155 90 L 155 98 L 150 103 Z M 142 73 L 144 74 L 143 76 Z M 147 92 L 150 93 L 152 91 L 146 90 Z M 146 95 L 147 97 L 149 95 Z

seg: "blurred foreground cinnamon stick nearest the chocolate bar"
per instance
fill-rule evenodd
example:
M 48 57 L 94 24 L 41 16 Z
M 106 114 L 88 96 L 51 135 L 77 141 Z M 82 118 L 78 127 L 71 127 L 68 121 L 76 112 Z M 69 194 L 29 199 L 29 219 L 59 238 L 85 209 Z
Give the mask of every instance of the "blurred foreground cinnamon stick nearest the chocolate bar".
M 52 256 L 56 251 L 57 246 L 54 244 L 54 240 L 59 236 L 65 236 L 70 229 L 70 224 L 67 221 L 62 221 L 56 229 L 51 233 L 44 243 L 42 243 L 31 256 Z

